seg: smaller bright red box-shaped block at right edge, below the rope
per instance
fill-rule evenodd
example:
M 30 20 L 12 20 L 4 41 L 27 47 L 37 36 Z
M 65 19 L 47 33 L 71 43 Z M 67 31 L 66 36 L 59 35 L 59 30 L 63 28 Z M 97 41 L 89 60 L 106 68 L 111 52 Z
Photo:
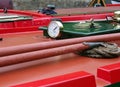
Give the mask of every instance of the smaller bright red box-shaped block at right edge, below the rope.
M 110 83 L 120 82 L 120 63 L 99 67 L 97 76 Z

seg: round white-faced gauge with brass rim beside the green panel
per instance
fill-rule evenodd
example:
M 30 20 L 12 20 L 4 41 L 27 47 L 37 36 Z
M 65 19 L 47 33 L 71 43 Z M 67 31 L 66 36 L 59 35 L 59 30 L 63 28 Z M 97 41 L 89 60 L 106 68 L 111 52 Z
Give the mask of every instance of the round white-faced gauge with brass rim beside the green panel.
M 48 35 L 51 38 L 57 38 L 60 36 L 61 29 L 63 29 L 63 24 L 60 21 L 52 21 L 48 26 Z

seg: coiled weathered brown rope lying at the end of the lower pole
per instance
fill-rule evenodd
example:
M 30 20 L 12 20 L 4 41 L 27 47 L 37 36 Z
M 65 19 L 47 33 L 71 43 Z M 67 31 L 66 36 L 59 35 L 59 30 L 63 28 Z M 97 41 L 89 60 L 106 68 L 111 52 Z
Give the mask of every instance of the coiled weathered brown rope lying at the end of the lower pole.
M 120 47 L 116 43 L 104 42 L 98 47 L 93 47 L 79 53 L 82 56 L 93 58 L 116 58 L 120 56 Z

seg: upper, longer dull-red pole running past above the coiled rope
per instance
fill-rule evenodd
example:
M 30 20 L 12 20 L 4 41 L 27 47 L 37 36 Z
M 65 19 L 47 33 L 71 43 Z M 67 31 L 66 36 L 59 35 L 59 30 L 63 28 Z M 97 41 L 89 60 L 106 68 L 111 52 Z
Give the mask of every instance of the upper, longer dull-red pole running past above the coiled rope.
M 25 53 L 30 51 L 37 51 L 42 49 L 66 46 L 71 44 L 77 44 L 81 42 L 92 42 L 92 41 L 108 41 L 115 40 L 120 38 L 120 33 L 115 34 L 106 34 L 106 35 L 97 35 L 97 36 L 89 36 L 89 37 L 80 37 L 80 38 L 72 38 L 72 39 L 64 39 L 64 40 L 56 40 L 42 43 L 33 43 L 12 47 L 4 47 L 0 48 L 0 56 L 7 56 L 19 53 Z

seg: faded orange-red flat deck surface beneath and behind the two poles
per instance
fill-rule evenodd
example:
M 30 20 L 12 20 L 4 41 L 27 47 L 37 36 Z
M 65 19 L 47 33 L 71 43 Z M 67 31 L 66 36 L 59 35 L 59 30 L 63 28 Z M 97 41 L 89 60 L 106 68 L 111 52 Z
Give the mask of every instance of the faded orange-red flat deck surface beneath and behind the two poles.
M 3 41 L 0 41 L 1 48 L 20 44 L 51 41 L 51 39 L 43 37 L 42 33 L 39 31 L 2 34 L 0 37 L 3 37 Z M 112 42 L 120 43 L 119 40 Z M 69 73 L 85 71 L 95 76 L 97 87 L 103 87 L 110 84 L 110 82 L 98 78 L 97 69 L 105 65 L 118 63 L 119 61 L 120 57 L 114 59 L 95 59 L 81 57 L 74 53 L 68 53 L 38 61 L 0 67 L 0 86 L 10 87 L 23 83 L 54 78 Z

